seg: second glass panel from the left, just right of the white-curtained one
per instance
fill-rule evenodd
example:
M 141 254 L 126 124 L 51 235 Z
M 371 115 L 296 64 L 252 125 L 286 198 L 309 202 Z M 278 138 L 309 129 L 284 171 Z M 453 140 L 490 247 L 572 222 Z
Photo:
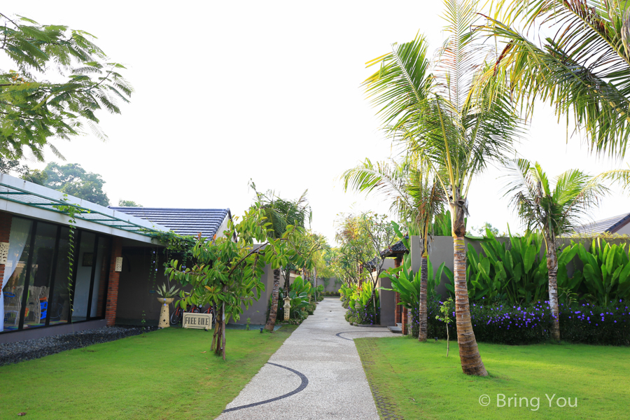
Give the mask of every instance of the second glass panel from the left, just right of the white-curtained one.
M 43 327 L 48 316 L 48 295 L 52 283 L 53 258 L 55 256 L 57 226 L 50 223 L 37 223 L 31 269 L 29 270 L 29 290 L 24 328 Z

